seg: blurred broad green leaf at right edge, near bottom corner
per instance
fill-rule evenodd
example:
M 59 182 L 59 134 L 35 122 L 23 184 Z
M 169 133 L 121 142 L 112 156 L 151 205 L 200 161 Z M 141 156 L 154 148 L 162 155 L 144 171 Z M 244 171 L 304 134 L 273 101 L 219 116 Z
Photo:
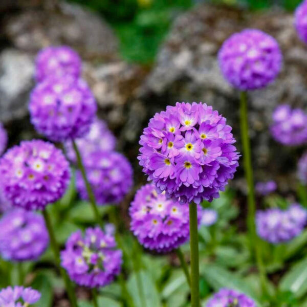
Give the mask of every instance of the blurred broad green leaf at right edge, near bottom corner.
M 298 298 L 307 293 L 307 257 L 282 277 L 279 289 L 282 292 L 291 291 Z

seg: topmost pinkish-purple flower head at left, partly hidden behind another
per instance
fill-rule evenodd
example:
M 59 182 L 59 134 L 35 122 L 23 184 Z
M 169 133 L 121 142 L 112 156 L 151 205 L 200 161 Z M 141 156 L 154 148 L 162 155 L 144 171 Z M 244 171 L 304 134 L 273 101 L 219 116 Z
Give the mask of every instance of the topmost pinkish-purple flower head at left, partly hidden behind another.
M 80 76 L 81 59 L 79 55 L 68 46 L 47 47 L 42 49 L 35 60 L 35 78 L 38 82 L 50 77 L 70 75 Z

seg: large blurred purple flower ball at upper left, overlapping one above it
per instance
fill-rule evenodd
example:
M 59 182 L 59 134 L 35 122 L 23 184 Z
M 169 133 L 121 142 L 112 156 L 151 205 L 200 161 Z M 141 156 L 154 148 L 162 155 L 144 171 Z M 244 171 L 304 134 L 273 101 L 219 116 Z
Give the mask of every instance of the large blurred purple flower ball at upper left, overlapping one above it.
M 71 76 L 37 84 L 29 104 L 35 129 L 52 141 L 83 137 L 90 129 L 96 108 L 86 82 Z

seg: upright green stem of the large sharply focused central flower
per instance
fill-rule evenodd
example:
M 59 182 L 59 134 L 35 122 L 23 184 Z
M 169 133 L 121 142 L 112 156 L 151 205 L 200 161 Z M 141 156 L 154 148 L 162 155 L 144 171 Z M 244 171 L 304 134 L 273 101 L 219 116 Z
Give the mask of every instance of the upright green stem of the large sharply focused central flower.
M 189 204 L 190 212 L 190 250 L 191 250 L 191 307 L 200 306 L 200 264 L 197 206 L 194 202 Z

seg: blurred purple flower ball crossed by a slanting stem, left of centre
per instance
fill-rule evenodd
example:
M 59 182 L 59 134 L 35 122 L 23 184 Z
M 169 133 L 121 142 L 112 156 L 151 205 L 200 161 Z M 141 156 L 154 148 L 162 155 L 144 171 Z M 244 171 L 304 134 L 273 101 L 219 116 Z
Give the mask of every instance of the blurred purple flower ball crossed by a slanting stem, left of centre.
M 118 152 L 92 152 L 85 163 L 85 171 L 99 205 L 123 200 L 133 185 L 133 170 L 128 160 Z M 87 191 L 80 171 L 76 186 L 81 198 L 87 200 Z

